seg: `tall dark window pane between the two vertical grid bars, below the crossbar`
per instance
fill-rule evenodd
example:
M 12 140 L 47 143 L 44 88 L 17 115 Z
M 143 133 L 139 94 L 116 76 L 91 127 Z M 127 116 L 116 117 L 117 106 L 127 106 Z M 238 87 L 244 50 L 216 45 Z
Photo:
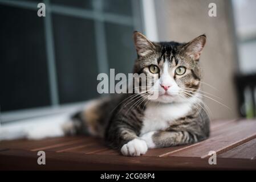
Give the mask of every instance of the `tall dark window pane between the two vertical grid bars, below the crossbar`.
M 53 15 L 60 103 L 97 96 L 94 22 Z

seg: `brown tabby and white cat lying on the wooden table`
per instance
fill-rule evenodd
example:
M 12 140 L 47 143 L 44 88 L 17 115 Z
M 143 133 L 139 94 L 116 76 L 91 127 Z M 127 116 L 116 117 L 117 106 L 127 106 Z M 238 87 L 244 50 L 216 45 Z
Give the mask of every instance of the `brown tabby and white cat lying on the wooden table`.
M 91 101 L 64 131 L 104 138 L 125 156 L 208 138 L 210 122 L 199 93 L 199 59 L 206 36 L 188 43 L 151 42 L 135 31 L 133 40 L 137 52 L 133 73 L 145 73 L 151 82 L 149 90 L 158 90 L 159 97 L 151 100 L 151 94 L 141 92 Z

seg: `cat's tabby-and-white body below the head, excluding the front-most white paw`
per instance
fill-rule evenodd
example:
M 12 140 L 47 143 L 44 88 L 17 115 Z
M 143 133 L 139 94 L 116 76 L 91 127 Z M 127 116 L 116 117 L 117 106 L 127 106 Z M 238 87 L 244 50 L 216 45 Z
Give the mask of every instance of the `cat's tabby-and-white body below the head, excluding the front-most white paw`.
M 116 95 L 92 101 L 84 111 L 74 115 L 72 122 L 78 124 L 72 134 L 104 138 L 109 146 L 119 150 L 133 139 L 141 138 L 146 142 L 147 148 L 156 148 L 194 143 L 209 137 L 209 118 L 204 106 L 198 110 L 197 98 L 178 104 L 142 102 L 137 107 L 137 100 L 129 100 L 131 95 Z M 66 131 L 71 131 L 70 127 L 74 125 L 68 125 Z M 169 132 L 174 137 L 164 137 L 164 132 Z M 126 155 L 136 154 L 128 152 Z

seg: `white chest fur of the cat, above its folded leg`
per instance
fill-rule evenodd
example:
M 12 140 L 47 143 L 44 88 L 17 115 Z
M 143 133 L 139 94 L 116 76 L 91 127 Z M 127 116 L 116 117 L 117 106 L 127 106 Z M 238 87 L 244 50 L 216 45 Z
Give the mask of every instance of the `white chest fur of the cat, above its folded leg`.
M 192 109 L 191 102 L 178 104 L 148 104 L 144 111 L 141 135 L 150 131 L 164 130 L 175 119 L 184 117 Z

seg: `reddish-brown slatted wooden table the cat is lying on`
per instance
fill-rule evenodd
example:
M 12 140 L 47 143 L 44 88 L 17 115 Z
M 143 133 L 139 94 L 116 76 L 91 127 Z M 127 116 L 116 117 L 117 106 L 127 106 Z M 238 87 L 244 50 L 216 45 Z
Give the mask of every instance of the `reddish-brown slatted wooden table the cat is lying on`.
M 256 121 L 214 121 L 211 137 L 186 146 L 157 148 L 137 157 L 121 156 L 92 137 L 0 142 L 0 169 L 256 169 Z M 46 165 L 38 165 L 38 151 Z M 217 164 L 210 165 L 209 151 Z

